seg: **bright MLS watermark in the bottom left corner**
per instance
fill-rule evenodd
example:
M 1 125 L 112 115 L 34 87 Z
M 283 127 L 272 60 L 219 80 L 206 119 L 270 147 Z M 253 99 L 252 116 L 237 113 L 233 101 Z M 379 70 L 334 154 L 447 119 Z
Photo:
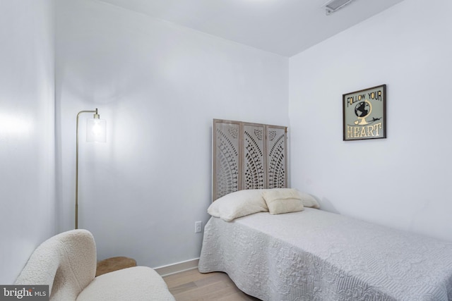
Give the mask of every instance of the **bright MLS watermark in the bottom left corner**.
M 0 301 L 49 301 L 49 285 L 0 285 Z

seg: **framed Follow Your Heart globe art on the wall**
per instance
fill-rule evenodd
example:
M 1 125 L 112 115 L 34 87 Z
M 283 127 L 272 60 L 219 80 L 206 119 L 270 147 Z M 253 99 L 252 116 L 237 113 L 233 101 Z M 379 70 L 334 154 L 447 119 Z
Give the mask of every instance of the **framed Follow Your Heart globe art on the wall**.
M 343 140 L 386 138 L 386 85 L 343 94 Z

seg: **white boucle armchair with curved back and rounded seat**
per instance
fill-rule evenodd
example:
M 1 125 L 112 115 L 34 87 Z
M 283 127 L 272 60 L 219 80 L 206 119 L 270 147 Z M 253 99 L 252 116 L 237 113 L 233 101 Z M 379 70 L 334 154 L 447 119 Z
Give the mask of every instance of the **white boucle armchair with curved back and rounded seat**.
M 49 285 L 50 300 L 174 300 L 163 278 L 147 266 L 95 277 L 96 246 L 86 230 L 72 230 L 37 247 L 17 285 Z

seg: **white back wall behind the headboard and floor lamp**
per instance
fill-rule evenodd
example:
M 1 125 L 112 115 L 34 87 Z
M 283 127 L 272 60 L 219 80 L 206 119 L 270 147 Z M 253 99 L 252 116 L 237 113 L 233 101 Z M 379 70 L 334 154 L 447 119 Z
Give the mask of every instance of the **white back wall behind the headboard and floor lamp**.
M 289 60 L 99 1 L 57 1 L 56 37 L 61 231 L 73 228 L 76 114 L 97 107 L 107 143 L 81 142 L 79 227 L 98 259 L 198 257 L 212 119 L 287 125 Z

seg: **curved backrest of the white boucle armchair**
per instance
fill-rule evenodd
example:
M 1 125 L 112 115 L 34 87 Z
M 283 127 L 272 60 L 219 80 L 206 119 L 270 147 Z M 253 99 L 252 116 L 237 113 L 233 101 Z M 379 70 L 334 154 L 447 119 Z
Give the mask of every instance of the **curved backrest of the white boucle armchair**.
M 16 284 L 49 285 L 50 300 L 76 300 L 95 278 L 96 247 L 86 230 L 49 238 L 32 253 Z

